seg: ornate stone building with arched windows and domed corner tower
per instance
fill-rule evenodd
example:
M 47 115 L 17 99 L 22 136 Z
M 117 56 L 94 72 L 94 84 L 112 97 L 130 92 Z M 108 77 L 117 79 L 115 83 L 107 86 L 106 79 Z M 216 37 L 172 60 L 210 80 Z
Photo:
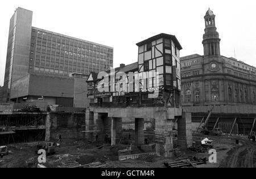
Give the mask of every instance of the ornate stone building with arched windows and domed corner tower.
M 256 68 L 221 56 L 212 10 L 204 20 L 204 55 L 180 58 L 183 106 L 256 104 Z

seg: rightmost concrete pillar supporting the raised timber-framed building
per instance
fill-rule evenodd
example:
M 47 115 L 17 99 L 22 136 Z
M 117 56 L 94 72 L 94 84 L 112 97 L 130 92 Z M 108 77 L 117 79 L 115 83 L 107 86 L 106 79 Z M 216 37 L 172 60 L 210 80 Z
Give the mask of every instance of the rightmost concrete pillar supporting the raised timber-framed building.
M 182 117 L 177 121 L 178 143 L 181 148 L 192 146 L 192 120 L 191 113 L 182 113 Z

